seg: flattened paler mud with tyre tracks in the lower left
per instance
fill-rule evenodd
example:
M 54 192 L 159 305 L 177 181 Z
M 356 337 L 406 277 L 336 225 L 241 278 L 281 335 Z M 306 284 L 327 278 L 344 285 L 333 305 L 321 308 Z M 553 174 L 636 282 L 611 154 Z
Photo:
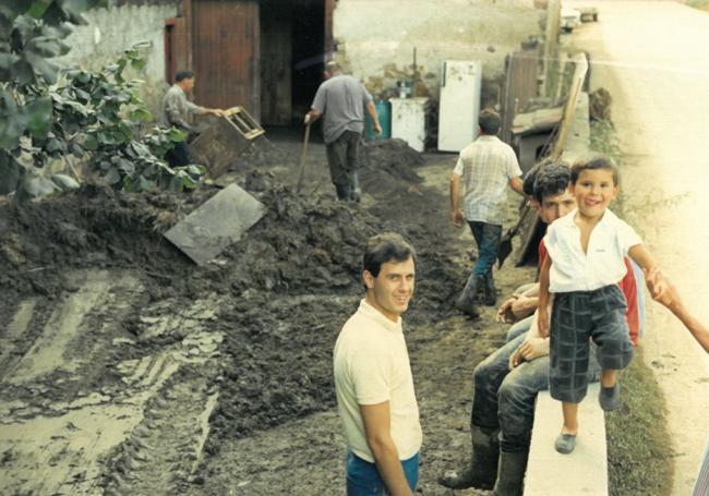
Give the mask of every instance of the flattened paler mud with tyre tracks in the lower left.
M 55 301 L 16 303 L 0 337 L 12 347 L 0 382 L 2 494 L 179 493 L 217 402 L 220 300 L 144 306 L 130 274 L 68 280 Z

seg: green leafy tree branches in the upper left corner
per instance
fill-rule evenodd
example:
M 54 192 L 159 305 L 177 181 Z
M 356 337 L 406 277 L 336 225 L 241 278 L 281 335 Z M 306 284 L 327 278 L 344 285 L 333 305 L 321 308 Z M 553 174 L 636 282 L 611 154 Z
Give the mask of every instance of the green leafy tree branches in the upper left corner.
M 60 74 L 51 61 L 69 51 L 72 26 L 85 24 L 80 12 L 103 1 L 2 0 L 0 194 L 22 187 L 34 167 L 71 155 L 128 191 L 191 189 L 204 173 L 199 166 L 172 169 L 161 158 L 184 133 L 145 132 L 153 117 L 139 94 L 142 82 L 124 76 L 129 68 L 143 69 L 142 45 L 97 72 Z

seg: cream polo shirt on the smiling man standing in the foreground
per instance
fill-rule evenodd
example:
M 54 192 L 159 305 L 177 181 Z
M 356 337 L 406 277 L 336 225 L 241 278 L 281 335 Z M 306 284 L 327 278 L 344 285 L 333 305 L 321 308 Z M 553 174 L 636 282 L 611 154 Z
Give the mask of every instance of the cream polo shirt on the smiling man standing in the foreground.
M 388 401 L 390 435 L 399 459 L 419 452 L 423 436 L 401 318 L 394 323 L 362 300 L 337 338 L 333 363 L 337 409 L 350 449 L 374 462 L 360 404 Z

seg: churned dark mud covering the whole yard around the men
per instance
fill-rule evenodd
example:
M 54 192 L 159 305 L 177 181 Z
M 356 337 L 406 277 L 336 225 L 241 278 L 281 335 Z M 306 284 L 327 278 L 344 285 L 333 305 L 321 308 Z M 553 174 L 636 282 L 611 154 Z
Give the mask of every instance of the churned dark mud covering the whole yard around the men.
M 3 495 L 343 494 L 332 348 L 361 298 L 364 241 L 382 230 L 419 254 L 405 322 L 421 488 L 446 494 L 436 474 L 469 455 L 472 368 L 506 331 L 493 309 L 476 323 L 453 311 L 474 257 L 469 232 L 448 222 L 455 156 L 377 145 L 362 203 L 343 205 L 317 144 L 308 194 L 293 194 L 298 152 L 262 143 L 191 194 L 86 186 L 0 203 Z M 267 215 L 196 267 L 160 233 L 229 181 Z M 532 277 L 507 262 L 500 292 Z

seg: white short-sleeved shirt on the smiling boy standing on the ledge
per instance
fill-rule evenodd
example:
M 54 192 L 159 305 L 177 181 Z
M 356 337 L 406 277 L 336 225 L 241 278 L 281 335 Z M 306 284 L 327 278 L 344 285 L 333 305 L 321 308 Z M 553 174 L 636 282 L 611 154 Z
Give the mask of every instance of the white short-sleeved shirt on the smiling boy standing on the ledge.
M 610 209 L 591 231 L 587 252 L 581 249 L 581 230 L 574 216 L 577 209 L 549 226 L 544 245 L 552 258 L 549 291 L 593 291 L 616 285 L 627 270 L 624 257 L 642 240 Z

